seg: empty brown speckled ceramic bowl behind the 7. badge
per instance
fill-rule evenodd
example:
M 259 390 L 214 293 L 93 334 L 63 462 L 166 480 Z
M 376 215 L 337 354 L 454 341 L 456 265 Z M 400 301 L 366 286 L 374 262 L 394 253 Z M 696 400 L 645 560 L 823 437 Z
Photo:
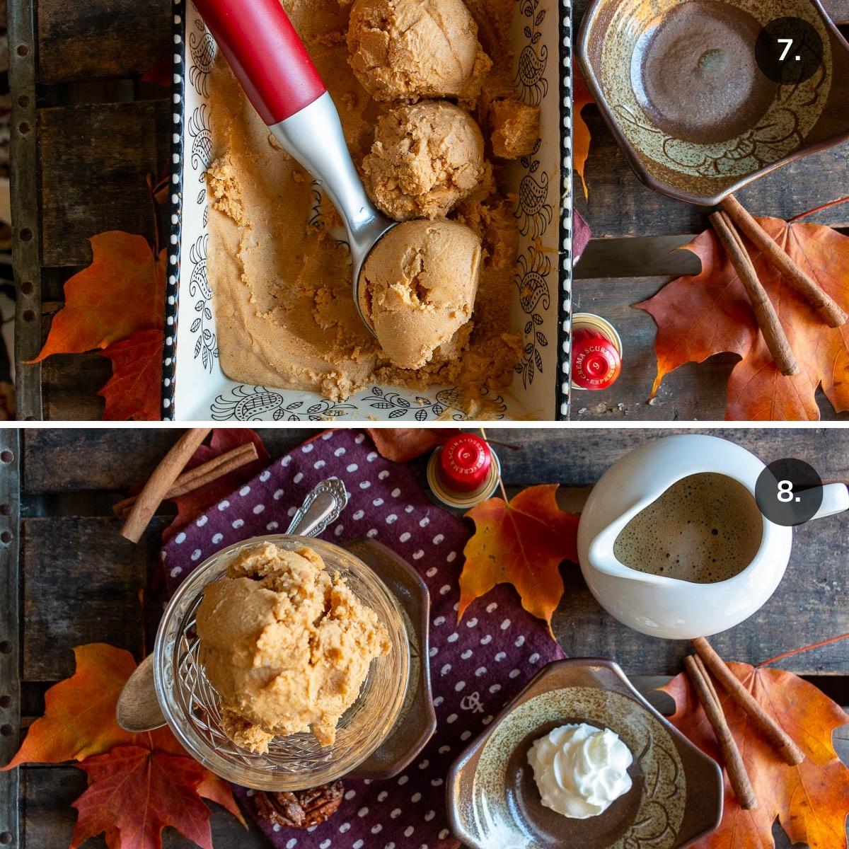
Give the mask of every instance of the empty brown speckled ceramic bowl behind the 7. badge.
M 799 18 L 823 42 L 805 82 L 771 82 L 758 33 Z M 578 58 L 637 176 L 700 205 L 849 138 L 849 44 L 819 0 L 593 0 Z

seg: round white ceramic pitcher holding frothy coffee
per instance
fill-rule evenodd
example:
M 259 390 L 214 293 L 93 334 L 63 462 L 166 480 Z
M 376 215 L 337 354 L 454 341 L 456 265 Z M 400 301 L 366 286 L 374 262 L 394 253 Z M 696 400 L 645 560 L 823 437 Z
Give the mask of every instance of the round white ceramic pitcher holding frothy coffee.
M 578 526 L 581 570 L 599 604 L 637 631 L 672 639 L 707 637 L 751 616 L 784 576 L 792 528 L 762 516 L 763 535 L 755 558 L 734 577 L 717 583 L 691 583 L 630 569 L 614 556 L 613 543 L 634 516 L 689 475 L 728 475 L 754 497 L 763 469 L 762 461 L 745 448 L 699 434 L 651 441 L 613 464 L 590 493 Z M 846 509 L 846 485 L 827 484 L 813 518 Z

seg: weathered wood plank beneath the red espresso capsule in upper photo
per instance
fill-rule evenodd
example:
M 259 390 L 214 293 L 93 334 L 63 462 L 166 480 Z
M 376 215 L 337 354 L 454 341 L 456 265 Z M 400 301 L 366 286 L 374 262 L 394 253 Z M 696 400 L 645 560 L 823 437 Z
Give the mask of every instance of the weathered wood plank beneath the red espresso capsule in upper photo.
M 728 375 L 738 362 L 734 354 L 719 354 L 705 363 L 688 363 L 664 378 L 654 402 L 649 403 L 657 374 L 655 321 L 632 304 L 655 295 L 668 278 L 608 278 L 576 280 L 573 312 L 596 312 L 614 324 L 622 338 L 622 373 L 616 384 L 603 391 L 574 391 L 572 421 L 666 419 L 703 421 L 724 419 Z M 818 393 L 824 420 L 845 420 L 828 399 Z

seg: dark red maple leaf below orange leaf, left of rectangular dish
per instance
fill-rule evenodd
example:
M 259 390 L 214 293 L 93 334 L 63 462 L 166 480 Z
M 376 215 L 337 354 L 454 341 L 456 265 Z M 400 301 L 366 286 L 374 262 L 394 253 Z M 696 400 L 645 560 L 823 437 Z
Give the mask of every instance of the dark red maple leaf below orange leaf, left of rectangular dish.
M 139 330 L 113 342 L 102 354 L 112 361 L 112 377 L 98 395 L 106 399 L 104 421 L 158 421 L 162 380 L 161 330 Z

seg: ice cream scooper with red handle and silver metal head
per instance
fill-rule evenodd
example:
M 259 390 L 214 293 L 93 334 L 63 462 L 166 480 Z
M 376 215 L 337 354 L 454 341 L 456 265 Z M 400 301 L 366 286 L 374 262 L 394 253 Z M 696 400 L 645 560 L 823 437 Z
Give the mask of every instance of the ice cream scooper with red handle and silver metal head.
M 358 294 L 360 272 L 374 245 L 396 222 L 368 199 L 339 113 L 306 48 L 278 0 L 195 0 L 195 7 L 274 138 L 321 183 L 340 212 L 351 249 L 354 302 L 375 333 Z M 476 238 L 471 231 L 469 236 Z M 404 250 L 401 239 L 392 244 Z M 383 344 L 380 331 L 376 335 Z

